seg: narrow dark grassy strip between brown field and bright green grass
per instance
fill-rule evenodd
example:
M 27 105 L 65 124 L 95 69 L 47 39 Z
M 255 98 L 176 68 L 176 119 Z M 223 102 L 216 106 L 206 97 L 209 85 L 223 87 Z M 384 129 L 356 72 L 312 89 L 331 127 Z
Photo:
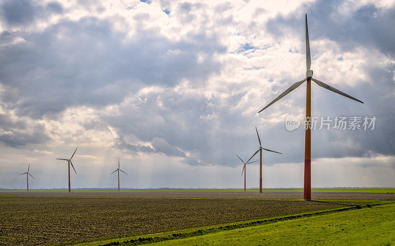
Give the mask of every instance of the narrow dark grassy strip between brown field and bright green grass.
M 330 213 L 335 213 L 335 212 L 352 211 L 352 210 L 359 210 L 359 209 L 365 209 L 365 208 L 372 208 L 372 207 L 380 206 L 380 205 L 383 205 L 383 204 L 386 204 L 386 203 L 367 204 L 367 205 L 362 205 L 362 206 L 353 206 L 353 207 L 340 208 L 340 209 L 334 209 L 334 210 L 326 210 L 326 211 L 317 211 L 317 212 L 312 212 L 312 213 L 288 215 L 288 216 L 282 216 L 282 217 L 276 217 L 276 218 L 270 218 L 270 219 L 263 219 L 263 220 L 256 220 L 256 221 L 239 223 L 239 224 L 230 224 L 230 225 L 214 227 L 214 228 L 199 229 L 199 230 L 196 230 L 196 231 L 186 232 L 186 233 L 173 233 L 171 235 L 167 235 L 167 236 L 164 236 L 164 237 L 143 237 L 143 238 L 140 237 L 138 239 L 131 239 L 131 240 L 123 241 L 123 242 L 118 242 L 118 241 L 117 242 L 112 242 L 112 243 L 109 243 L 109 244 L 104 244 L 102 246 L 144 245 L 144 244 L 151 244 L 151 243 L 157 243 L 157 242 L 169 241 L 169 240 L 175 240 L 175 239 L 185 239 L 185 238 L 190 238 L 190 237 L 195 237 L 195 236 L 202 236 L 202 235 L 211 234 L 211 233 L 217 233 L 217 232 L 222 232 L 222 231 L 230 231 L 230 230 L 235 230 L 235 229 L 245 228 L 245 227 L 252 227 L 252 226 L 257 226 L 257 225 L 265 225 L 265 224 L 276 223 L 276 222 L 280 222 L 280 221 L 286 221 L 286 220 L 292 220 L 292 219 L 298 219 L 298 218 L 307 218 L 307 217 L 313 217 L 313 216 L 318 216 L 318 215 L 330 214 Z

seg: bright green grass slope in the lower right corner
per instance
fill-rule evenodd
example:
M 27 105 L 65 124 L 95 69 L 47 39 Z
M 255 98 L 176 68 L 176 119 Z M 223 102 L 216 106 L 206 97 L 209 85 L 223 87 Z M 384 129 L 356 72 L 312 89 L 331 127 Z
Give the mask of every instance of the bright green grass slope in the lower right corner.
M 391 245 L 395 205 L 285 220 L 153 245 Z

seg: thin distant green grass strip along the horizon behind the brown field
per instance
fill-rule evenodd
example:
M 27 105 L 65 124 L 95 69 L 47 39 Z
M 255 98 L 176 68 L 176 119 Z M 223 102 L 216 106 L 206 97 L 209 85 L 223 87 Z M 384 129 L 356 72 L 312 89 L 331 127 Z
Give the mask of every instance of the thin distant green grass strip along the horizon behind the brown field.
M 25 192 L 23 189 L 1 189 L 0 192 Z M 67 189 L 31 189 L 33 192 L 67 192 Z M 116 189 L 72 190 L 72 192 L 112 192 Z M 239 192 L 243 189 L 123 189 L 123 192 Z M 258 192 L 259 189 L 247 189 L 248 192 Z M 263 192 L 302 192 L 303 188 L 270 188 Z M 312 192 L 371 192 L 395 193 L 395 188 L 313 188 Z

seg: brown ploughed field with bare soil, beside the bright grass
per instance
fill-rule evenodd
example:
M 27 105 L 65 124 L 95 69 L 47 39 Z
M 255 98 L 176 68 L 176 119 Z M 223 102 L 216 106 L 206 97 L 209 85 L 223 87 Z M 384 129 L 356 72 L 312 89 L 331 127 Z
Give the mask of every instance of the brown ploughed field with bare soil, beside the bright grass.
M 1 244 L 38 245 L 86 242 L 321 211 L 372 202 L 367 200 L 340 202 L 234 198 L 60 197 L 63 194 L 59 193 L 57 197 L 8 196 L 12 194 L 6 193 L 0 196 Z M 32 194 L 35 193 L 26 195 Z

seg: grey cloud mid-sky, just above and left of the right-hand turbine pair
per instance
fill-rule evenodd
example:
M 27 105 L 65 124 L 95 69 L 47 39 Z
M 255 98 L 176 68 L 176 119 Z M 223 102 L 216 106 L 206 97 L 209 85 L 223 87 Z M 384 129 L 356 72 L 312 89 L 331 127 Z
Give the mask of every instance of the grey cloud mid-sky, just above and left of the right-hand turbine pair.
M 180 95 L 167 88 L 160 93 L 150 93 L 144 97 L 144 103 L 136 99 L 123 106 L 120 115 L 103 116 L 102 119 L 115 127 L 118 134 L 151 142 L 156 152 L 180 157 L 185 157 L 187 151 L 192 153 L 193 157 L 183 160 L 190 165 L 235 166 L 239 164 L 235 153 L 246 160 L 253 153 L 251 149 L 259 147 L 255 129 L 246 127 L 251 119 L 241 118 L 240 112 L 212 108 L 212 104 L 220 104 L 217 100 Z M 158 107 L 159 102 L 161 107 Z M 156 140 L 162 141 L 164 147 Z M 267 147 L 274 148 L 276 143 L 270 142 L 273 145 Z M 281 162 L 283 159 L 273 157 L 268 161 Z

